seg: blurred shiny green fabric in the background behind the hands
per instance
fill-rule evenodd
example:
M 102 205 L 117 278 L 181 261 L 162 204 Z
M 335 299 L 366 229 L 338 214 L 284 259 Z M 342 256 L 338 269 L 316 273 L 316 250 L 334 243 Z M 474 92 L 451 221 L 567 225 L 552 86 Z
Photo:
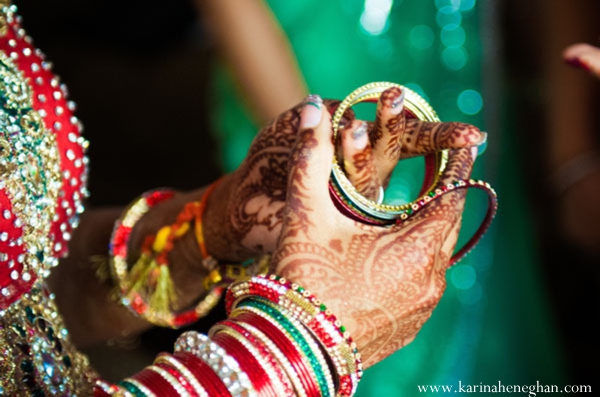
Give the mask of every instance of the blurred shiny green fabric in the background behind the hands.
M 496 221 L 477 248 L 450 269 L 447 291 L 416 340 L 368 370 L 358 395 L 418 395 L 416 385 L 457 385 L 459 380 L 564 384 L 514 130 L 510 121 L 498 122 L 499 109 L 491 105 L 501 101 L 500 84 L 484 81 L 500 78 L 484 69 L 494 56 L 493 46 L 486 47 L 493 34 L 493 26 L 484 23 L 492 12 L 489 2 L 268 3 L 311 93 L 341 99 L 368 82 L 392 81 L 420 93 L 442 120 L 471 123 L 489 133 L 488 150 L 478 159 L 474 176 L 497 189 Z M 258 126 L 245 112 L 227 69 L 217 70 L 214 131 L 219 131 L 223 167 L 233 170 Z M 409 168 L 405 173 L 407 185 L 416 186 L 416 171 Z M 485 210 L 485 197 L 477 194 L 469 195 L 463 241 Z

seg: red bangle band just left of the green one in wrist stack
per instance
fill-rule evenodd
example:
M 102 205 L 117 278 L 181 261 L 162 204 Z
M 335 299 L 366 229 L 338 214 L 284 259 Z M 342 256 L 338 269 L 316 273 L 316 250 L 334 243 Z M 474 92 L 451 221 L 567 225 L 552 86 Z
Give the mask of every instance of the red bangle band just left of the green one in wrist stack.
M 304 390 L 308 396 L 320 395 L 316 379 L 310 376 L 308 366 L 296 346 L 277 327 L 261 316 L 252 312 L 243 312 L 235 317 L 234 321 L 245 322 L 263 332 L 288 358 L 296 371 Z

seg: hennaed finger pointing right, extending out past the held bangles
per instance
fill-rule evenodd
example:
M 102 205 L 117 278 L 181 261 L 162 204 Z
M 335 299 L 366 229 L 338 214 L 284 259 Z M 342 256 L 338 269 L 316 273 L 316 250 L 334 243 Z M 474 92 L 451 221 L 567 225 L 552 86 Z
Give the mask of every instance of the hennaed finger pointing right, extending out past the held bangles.
M 402 134 L 402 157 L 423 156 L 443 149 L 481 146 L 487 133 L 465 123 L 434 123 L 410 119 Z

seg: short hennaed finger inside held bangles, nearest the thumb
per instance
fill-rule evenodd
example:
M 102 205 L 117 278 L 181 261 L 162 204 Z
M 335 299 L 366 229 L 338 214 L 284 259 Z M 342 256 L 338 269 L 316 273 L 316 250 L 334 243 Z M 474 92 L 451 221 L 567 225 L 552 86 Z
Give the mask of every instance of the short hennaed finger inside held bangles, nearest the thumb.
M 381 183 L 369 144 L 367 123 L 354 121 L 342 131 L 344 170 L 356 190 L 371 200 L 377 200 Z

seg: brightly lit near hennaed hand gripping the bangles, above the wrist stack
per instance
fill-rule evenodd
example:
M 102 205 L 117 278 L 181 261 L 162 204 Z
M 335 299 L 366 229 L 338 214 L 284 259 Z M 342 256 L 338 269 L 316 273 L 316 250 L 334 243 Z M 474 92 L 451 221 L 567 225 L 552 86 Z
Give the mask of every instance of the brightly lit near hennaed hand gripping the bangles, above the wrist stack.
M 329 197 L 333 152 L 329 113 L 305 106 L 271 271 L 319 297 L 350 331 L 368 367 L 410 343 L 440 300 L 464 193 L 446 194 L 401 226 L 358 223 Z M 468 178 L 476 153 L 450 151 L 439 183 Z

